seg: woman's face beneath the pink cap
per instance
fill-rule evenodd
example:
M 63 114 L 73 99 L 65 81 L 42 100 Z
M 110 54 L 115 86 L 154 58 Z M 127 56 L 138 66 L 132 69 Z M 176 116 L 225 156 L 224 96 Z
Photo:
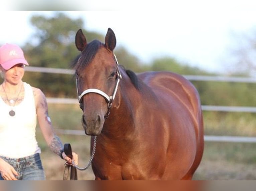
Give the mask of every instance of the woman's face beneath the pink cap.
M 24 67 L 24 64 L 16 64 L 9 70 L 4 70 L 1 67 L 1 70 L 4 75 L 4 80 L 13 85 L 20 83 L 25 73 Z

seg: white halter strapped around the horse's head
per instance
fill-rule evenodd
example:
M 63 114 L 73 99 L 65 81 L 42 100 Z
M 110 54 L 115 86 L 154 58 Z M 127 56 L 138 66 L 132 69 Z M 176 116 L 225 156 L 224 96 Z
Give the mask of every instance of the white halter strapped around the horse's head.
M 79 101 L 79 104 L 80 104 L 80 108 L 82 109 L 82 98 L 84 95 L 86 94 L 89 94 L 89 93 L 95 93 L 95 94 L 99 94 L 101 96 L 103 96 L 106 100 L 106 102 L 108 103 L 108 111 L 106 113 L 106 115 L 104 116 L 105 119 L 108 118 L 109 114 L 110 114 L 110 108 L 112 107 L 112 102 L 114 101 L 115 99 L 115 96 L 116 96 L 116 92 L 117 92 L 117 89 L 118 89 L 118 84 L 120 82 L 120 79 L 122 79 L 122 76 L 121 76 L 121 73 L 120 73 L 120 70 L 118 68 L 119 64 L 118 64 L 118 61 L 117 61 L 117 58 L 116 58 L 116 55 L 114 54 L 114 60 L 116 61 L 116 65 L 117 65 L 117 80 L 116 80 L 116 84 L 115 84 L 115 89 L 112 93 L 112 95 L 107 95 L 106 93 L 104 93 L 103 91 L 99 90 L 99 89 L 95 89 L 95 88 L 90 88 L 90 89 L 87 89 L 85 91 L 83 91 L 80 95 L 78 93 L 78 87 L 77 87 L 77 95 L 78 95 L 78 101 Z M 78 85 L 78 80 L 76 79 L 76 83 Z

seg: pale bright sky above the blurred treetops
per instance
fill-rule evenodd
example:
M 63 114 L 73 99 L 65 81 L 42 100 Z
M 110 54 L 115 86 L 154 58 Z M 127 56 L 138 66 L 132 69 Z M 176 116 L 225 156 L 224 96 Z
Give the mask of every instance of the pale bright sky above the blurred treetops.
M 116 35 L 117 46 L 124 46 L 142 63 L 169 56 L 209 72 L 223 72 L 223 65 L 229 62 L 235 46 L 233 34 L 248 33 L 256 27 L 254 3 L 248 0 L 193 2 L 184 4 L 181 0 L 161 10 L 154 9 L 153 4 L 145 10 L 120 10 L 107 5 L 103 10 L 103 3 L 94 11 L 63 12 L 71 18 L 82 18 L 83 27 L 89 31 L 105 35 L 110 27 Z M 89 8 L 96 6 L 87 4 Z M 52 16 L 53 11 L 0 10 L 0 44 L 22 46 L 34 33 L 29 18 L 38 14 Z

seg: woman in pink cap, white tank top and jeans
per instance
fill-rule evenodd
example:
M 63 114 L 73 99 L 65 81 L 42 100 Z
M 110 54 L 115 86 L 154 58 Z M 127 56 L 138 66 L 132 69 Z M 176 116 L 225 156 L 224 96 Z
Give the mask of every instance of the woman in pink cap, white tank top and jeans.
M 28 65 L 21 48 L 14 44 L 0 47 L 0 179 L 45 180 L 41 150 L 35 138 L 36 121 L 50 149 L 69 164 L 63 145 L 55 135 L 45 95 L 22 81 Z M 73 153 L 74 163 L 78 156 Z

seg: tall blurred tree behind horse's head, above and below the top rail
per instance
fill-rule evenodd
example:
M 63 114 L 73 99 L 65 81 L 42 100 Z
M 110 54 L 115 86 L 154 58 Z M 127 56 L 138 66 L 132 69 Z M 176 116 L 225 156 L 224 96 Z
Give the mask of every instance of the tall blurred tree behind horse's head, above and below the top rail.
M 70 68 L 72 61 L 80 54 L 75 46 L 75 35 L 84 25 L 81 18 L 71 19 L 62 12 L 53 17 L 31 17 L 35 33 L 23 50 L 30 66 L 49 68 Z M 97 33 L 82 28 L 88 41 L 104 40 Z M 40 87 L 47 96 L 75 97 L 76 86 L 72 75 L 29 73 L 24 80 L 35 87 Z

